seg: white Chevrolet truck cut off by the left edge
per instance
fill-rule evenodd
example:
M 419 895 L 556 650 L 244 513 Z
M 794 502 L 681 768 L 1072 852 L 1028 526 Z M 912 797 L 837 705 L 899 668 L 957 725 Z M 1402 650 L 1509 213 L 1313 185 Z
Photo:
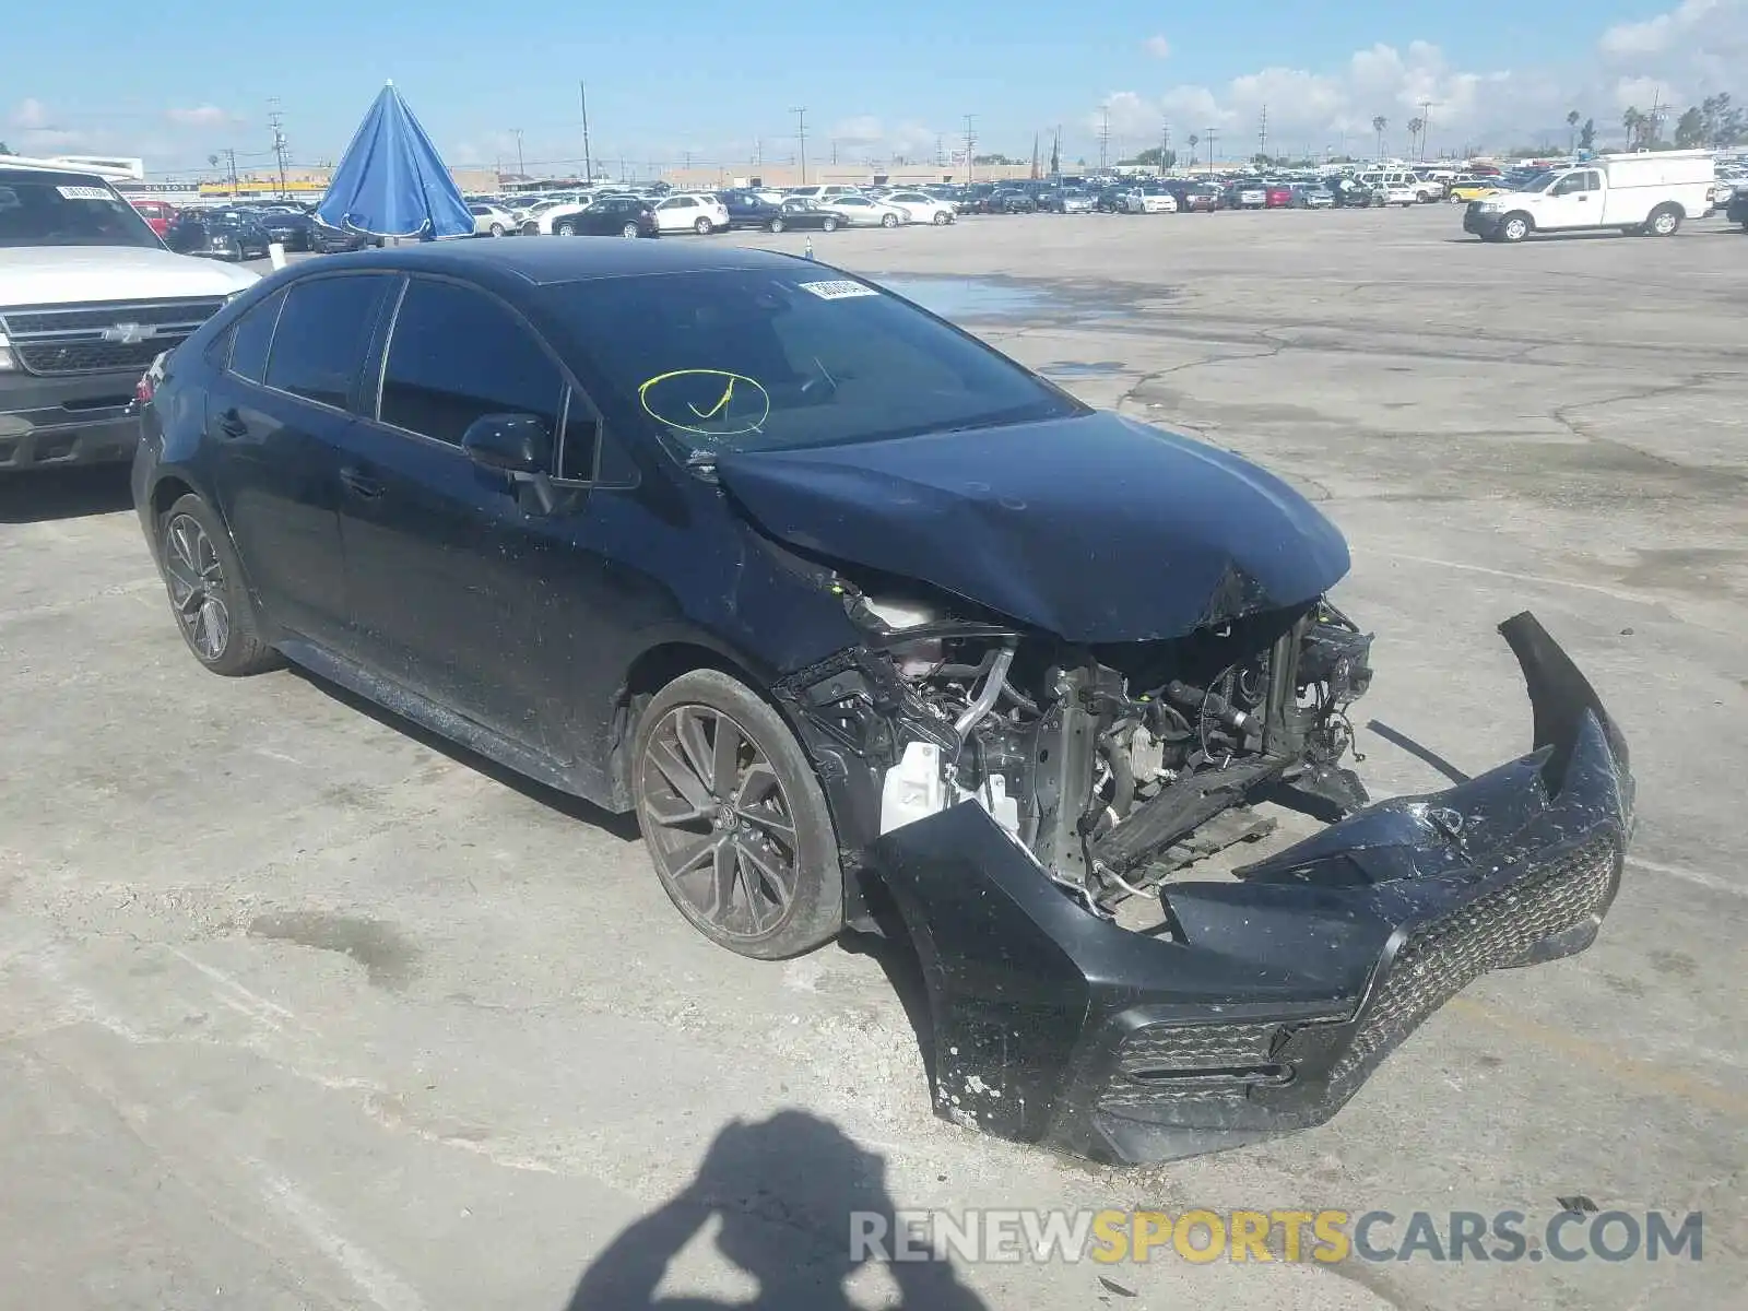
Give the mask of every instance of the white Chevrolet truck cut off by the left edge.
M 140 376 L 255 278 L 171 253 L 96 173 L 0 156 L 0 477 L 131 460 Z

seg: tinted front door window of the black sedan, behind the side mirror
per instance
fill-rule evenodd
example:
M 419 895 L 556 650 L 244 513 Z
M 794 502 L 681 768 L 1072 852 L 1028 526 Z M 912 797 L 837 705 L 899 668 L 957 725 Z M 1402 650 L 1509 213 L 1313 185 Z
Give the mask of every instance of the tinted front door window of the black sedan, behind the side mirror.
M 558 365 L 502 304 L 454 283 L 407 285 L 383 371 L 383 423 L 451 446 L 481 414 L 537 414 L 556 434 L 563 397 Z

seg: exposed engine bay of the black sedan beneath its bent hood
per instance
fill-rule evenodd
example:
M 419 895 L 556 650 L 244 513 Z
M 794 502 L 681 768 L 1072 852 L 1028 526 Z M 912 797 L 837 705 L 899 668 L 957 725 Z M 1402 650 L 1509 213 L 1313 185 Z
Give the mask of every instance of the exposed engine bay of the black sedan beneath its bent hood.
M 1266 834 L 1273 822 L 1248 808 L 1262 794 L 1323 820 L 1367 804 L 1341 760 L 1372 638 L 1325 598 L 1176 640 L 1077 647 L 836 587 L 864 649 L 795 692 L 877 774 L 881 834 L 975 801 L 1110 918 Z

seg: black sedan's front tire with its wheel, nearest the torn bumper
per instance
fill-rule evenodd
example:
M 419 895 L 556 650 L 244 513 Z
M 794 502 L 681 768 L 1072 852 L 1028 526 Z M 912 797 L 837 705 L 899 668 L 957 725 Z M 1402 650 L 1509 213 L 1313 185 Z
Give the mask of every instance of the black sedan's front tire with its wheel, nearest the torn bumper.
M 710 746 L 715 766 L 720 743 L 717 732 L 724 720 L 739 734 L 732 753 L 732 792 L 727 783 L 718 787 L 717 781 L 706 781 L 704 771 L 689 769 L 683 748 L 676 746 L 685 725 L 694 725 L 696 741 Z M 706 725 L 711 729 L 708 738 Z M 680 757 L 675 755 L 676 750 L 682 752 Z M 739 764 L 748 759 L 762 760 L 764 769 L 752 764 L 743 773 Z M 680 787 L 671 783 L 675 771 L 685 774 L 694 790 L 704 790 L 699 794 L 703 804 L 687 801 Z M 752 787 L 755 774 L 760 780 L 760 799 L 743 806 L 745 790 Z M 825 806 L 825 792 L 783 717 L 739 680 L 718 669 L 694 669 L 661 689 L 638 715 L 631 788 L 638 825 L 662 890 L 675 909 L 711 942 L 741 956 L 781 960 L 829 942 L 843 928 L 844 876 L 837 864 L 837 832 Z M 710 816 L 703 815 L 706 809 L 711 811 Z M 673 818 L 685 811 L 696 811 L 697 818 Z M 748 822 L 748 815 L 760 818 Z M 783 829 L 792 832 L 792 843 L 780 836 Z M 760 853 L 760 865 L 750 865 L 739 855 L 748 843 Z M 706 851 L 711 864 L 699 867 L 699 857 Z M 776 914 L 769 923 L 760 923 L 752 905 L 780 886 L 764 869 L 780 867 L 783 853 L 788 857 L 788 898 L 778 907 L 764 898 L 766 907 Z M 724 860 L 731 867 L 727 876 L 720 872 L 718 862 Z M 690 871 L 685 869 L 687 864 L 692 865 Z M 682 867 L 680 877 L 673 872 L 675 865 Z M 711 884 L 708 890 L 699 888 L 699 874 Z M 711 902 L 717 900 L 720 888 L 715 884 L 720 877 L 729 881 L 729 905 L 699 905 L 694 897 L 708 893 Z M 759 893 L 753 891 L 753 883 L 759 884 Z M 736 895 L 746 905 L 745 914 L 738 914 Z

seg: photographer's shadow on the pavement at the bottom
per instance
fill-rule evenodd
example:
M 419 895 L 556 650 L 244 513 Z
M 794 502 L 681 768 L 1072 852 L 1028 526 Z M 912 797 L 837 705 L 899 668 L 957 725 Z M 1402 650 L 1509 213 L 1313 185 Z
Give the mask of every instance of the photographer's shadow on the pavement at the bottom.
M 884 1157 L 837 1126 L 799 1110 L 734 1120 L 696 1178 L 582 1273 L 568 1311 L 855 1311 L 844 1285 L 890 1250 L 893 1211 Z M 757 1281 L 757 1294 L 657 1297 L 669 1264 L 713 1218 L 717 1252 Z M 884 1246 L 858 1245 L 857 1234 Z M 893 1311 L 988 1311 L 946 1260 L 886 1269 L 900 1292 Z

